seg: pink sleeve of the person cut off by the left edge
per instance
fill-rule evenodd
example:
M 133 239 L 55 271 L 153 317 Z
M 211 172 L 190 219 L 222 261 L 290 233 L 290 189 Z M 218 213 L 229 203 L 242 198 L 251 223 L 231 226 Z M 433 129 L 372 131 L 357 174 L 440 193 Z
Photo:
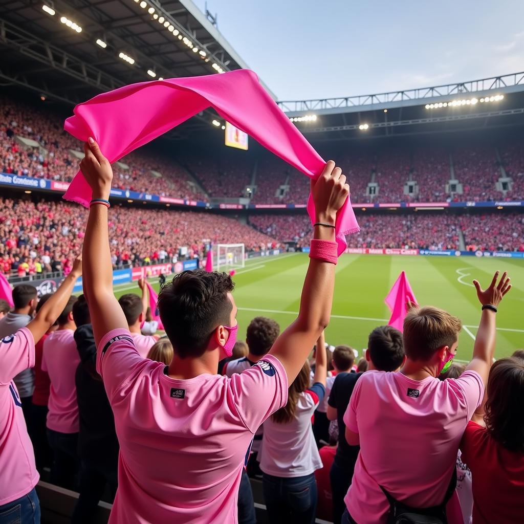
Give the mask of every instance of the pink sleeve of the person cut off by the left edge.
M 24 369 L 35 365 L 35 339 L 27 328 L 0 341 L 0 385 L 7 386 Z

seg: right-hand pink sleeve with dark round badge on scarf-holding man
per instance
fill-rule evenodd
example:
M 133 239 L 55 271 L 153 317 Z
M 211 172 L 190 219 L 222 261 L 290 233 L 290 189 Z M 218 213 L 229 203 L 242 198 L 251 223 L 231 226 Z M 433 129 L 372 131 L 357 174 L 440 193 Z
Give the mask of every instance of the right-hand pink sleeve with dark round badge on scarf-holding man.
M 288 401 L 288 378 L 278 358 L 266 355 L 229 379 L 228 395 L 245 427 L 255 433 L 261 423 Z

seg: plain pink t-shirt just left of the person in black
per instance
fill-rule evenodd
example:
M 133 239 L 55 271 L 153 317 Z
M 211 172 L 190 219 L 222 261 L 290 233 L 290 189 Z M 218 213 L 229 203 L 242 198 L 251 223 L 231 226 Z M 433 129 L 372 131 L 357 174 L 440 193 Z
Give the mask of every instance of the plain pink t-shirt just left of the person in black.
M 42 370 L 51 380 L 47 427 L 60 433 L 78 433 L 77 386 L 74 376 L 80 364 L 77 344 L 70 329 L 53 331 L 43 343 Z

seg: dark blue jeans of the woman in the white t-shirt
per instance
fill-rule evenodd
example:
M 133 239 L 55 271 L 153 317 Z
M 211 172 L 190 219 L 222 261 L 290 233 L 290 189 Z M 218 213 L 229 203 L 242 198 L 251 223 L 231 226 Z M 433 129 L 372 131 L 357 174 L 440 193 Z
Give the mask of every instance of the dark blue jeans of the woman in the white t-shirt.
M 264 499 L 271 524 L 313 524 L 316 513 L 315 475 L 263 477 Z

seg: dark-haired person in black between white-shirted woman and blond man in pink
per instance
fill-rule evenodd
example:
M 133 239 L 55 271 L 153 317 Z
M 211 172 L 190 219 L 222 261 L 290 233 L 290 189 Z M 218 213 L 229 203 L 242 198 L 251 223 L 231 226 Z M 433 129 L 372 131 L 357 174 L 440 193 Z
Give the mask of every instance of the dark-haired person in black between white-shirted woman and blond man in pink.
M 391 326 L 379 326 L 369 334 L 366 356 L 364 358 L 366 363 L 364 371 L 368 369 L 386 372 L 397 371 L 405 361 L 405 358 L 402 333 L 400 331 Z M 351 485 L 355 463 L 360 450 L 358 445 L 350 445 L 346 440 L 344 414 L 350 403 L 357 380 L 362 376 L 362 373 L 361 370 L 357 369 L 357 373 L 337 374 L 328 400 L 328 419 L 336 421 L 339 428 L 339 445 L 330 471 L 334 522 L 341 521 L 346 509 L 344 497 Z

